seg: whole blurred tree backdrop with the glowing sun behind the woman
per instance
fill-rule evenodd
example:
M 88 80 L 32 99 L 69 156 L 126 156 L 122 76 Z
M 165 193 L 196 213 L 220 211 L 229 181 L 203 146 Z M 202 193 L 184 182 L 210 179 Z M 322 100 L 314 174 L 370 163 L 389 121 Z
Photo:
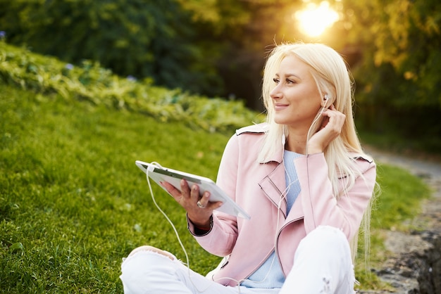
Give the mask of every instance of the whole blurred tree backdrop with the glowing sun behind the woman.
M 0 0 L 0 39 L 256 111 L 268 51 L 321 42 L 354 75 L 365 141 L 441 154 L 439 0 Z

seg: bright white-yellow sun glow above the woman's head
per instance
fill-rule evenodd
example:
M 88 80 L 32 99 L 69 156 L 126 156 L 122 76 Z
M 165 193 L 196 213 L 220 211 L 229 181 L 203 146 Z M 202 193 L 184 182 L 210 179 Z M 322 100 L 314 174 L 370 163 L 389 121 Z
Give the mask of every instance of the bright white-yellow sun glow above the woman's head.
M 302 11 L 293 15 L 300 23 L 300 29 L 304 34 L 318 37 L 338 20 L 338 13 L 329 7 L 328 1 L 322 1 L 320 5 L 310 3 Z

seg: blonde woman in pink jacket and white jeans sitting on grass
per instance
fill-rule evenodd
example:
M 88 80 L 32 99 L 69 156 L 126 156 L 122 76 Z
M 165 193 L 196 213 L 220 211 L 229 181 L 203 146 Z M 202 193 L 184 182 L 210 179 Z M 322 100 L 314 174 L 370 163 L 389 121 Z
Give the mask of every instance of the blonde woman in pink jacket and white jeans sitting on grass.
M 276 46 L 263 101 L 267 122 L 232 136 L 217 180 L 250 220 L 217 212 L 197 185 L 163 184 L 223 262 L 207 278 L 143 246 L 123 262 L 126 293 L 354 293 L 349 244 L 354 254 L 369 223 L 375 163 L 356 136 L 344 60 L 323 44 Z

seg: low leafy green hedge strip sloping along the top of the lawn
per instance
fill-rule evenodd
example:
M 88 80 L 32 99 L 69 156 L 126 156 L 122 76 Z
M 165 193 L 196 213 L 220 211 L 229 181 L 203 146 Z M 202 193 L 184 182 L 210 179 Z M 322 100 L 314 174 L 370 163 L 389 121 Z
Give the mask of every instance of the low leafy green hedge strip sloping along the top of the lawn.
M 66 101 L 76 98 L 94 105 L 128 109 L 163 122 L 184 122 L 210 132 L 232 132 L 262 119 L 240 101 L 154 87 L 149 79 L 137 82 L 113 75 L 99 63 L 84 61 L 77 67 L 4 42 L 0 42 L 0 79 L 40 94 L 58 93 Z

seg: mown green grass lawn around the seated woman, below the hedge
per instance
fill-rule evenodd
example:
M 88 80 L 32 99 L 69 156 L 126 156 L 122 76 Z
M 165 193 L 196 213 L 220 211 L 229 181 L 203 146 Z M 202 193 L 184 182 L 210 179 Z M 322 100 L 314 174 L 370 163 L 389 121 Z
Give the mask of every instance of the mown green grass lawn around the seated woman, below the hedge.
M 0 84 L 1 293 L 122 293 L 121 258 L 151 244 L 185 255 L 154 207 L 135 160 L 216 179 L 228 135 L 190 129 L 86 101 Z M 379 229 L 402 226 L 429 191 L 408 172 L 380 165 L 372 217 L 371 262 L 380 262 Z M 187 234 L 185 212 L 152 184 L 176 225 L 190 266 L 218 262 Z M 385 287 L 359 262 L 362 288 Z

